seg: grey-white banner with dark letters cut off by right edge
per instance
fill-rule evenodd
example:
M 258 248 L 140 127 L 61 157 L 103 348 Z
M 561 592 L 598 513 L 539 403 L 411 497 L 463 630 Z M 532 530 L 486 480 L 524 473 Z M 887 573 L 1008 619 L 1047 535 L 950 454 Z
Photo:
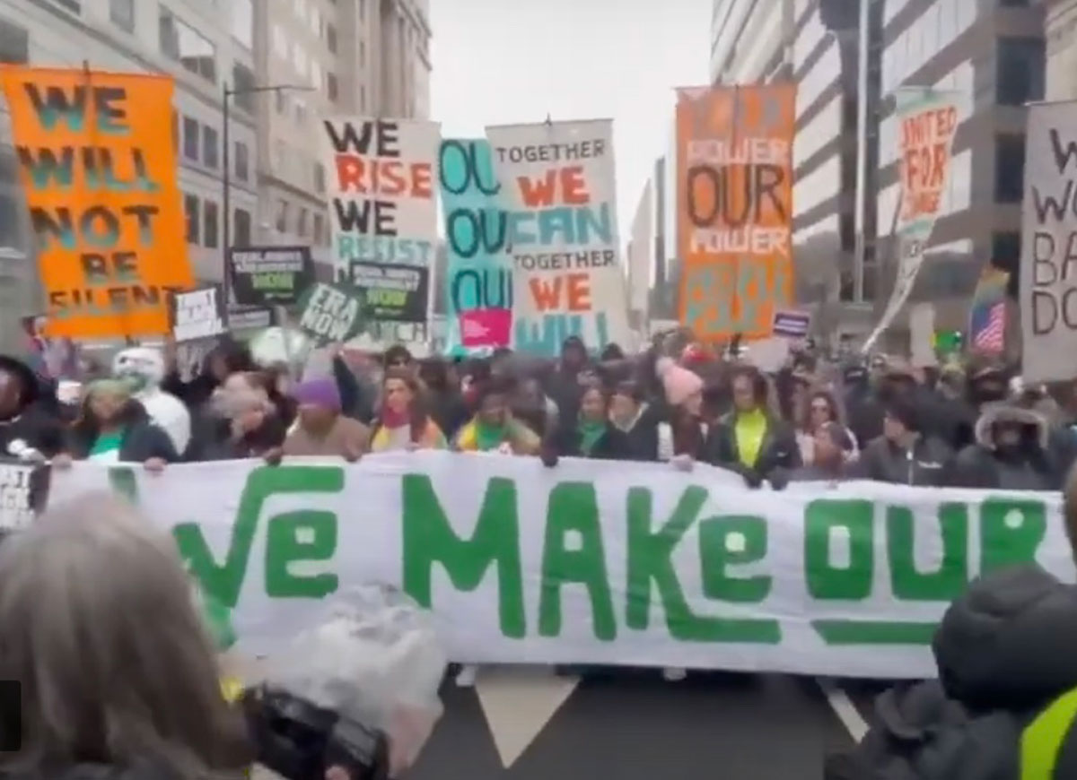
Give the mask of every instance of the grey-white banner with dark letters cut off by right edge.
M 1077 102 L 1029 107 L 1021 247 L 1022 375 L 1077 377 Z

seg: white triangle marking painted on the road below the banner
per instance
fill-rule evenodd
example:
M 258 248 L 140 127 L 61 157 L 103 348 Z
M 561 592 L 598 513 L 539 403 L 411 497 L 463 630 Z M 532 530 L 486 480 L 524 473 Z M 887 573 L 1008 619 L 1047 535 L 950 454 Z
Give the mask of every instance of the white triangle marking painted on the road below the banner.
M 484 667 L 475 692 L 506 769 L 516 763 L 557 710 L 578 678 L 557 677 L 549 667 Z

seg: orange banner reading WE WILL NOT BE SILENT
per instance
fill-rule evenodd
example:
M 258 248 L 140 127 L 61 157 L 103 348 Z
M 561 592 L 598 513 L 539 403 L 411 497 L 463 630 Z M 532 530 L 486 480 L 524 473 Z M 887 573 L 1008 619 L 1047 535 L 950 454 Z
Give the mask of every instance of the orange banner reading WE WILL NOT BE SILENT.
M 172 79 L 0 68 L 45 287 L 48 335 L 168 332 L 193 286 L 172 147 Z

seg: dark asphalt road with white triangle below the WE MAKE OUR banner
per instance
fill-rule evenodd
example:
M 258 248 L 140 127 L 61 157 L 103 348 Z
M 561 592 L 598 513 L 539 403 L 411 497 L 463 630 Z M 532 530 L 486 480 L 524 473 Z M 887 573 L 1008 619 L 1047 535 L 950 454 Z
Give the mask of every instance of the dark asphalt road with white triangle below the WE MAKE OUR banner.
M 548 670 L 513 675 L 496 695 L 481 671 L 475 687 L 446 684 L 445 714 L 407 780 L 815 780 L 827 752 L 863 731 L 878 690 L 779 675 L 667 682 L 621 672 L 568 691 Z M 559 685 L 533 705 L 544 686 Z

